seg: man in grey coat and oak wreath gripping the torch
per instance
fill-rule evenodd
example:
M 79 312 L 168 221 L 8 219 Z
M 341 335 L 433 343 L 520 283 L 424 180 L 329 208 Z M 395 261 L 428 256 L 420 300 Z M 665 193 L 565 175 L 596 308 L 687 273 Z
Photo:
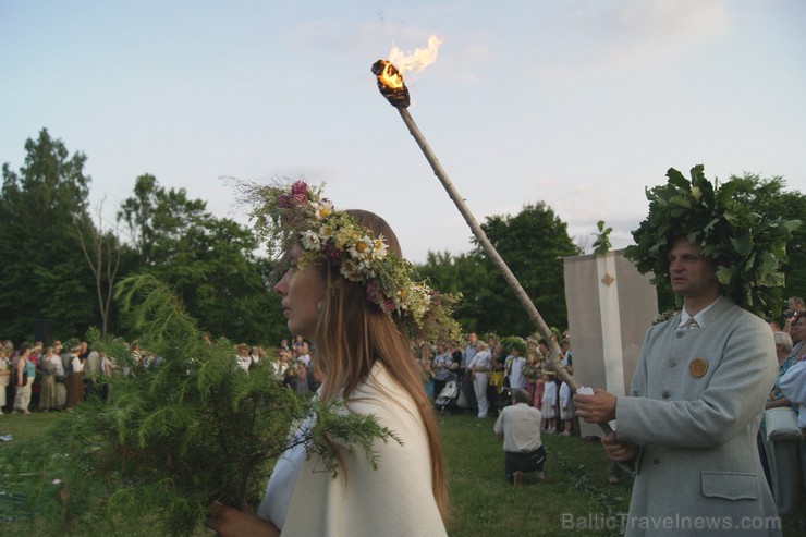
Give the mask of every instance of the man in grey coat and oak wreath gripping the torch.
M 691 190 L 671 179 L 668 188 L 689 196 L 710 185 L 699 168 Z M 650 205 L 650 216 L 656 208 Z M 704 217 L 718 229 L 728 225 L 718 209 L 696 210 L 710 210 Z M 647 219 L 668 230 L 651 237 L 660 245 L 655 273 L 668 278 L 683 307 L 647 331 L 630 395 L 595 389 L 574 402 L 588 423 L 615 419 L 616 431 L 602 444 L 611 460 L 636 472 L 625 535 L 781 535 L 756 447 L 776 377 L 772 331 L 725 295 L 717 278 L 721 263 L 703 254 L 719 235 L 692 229 L 694 216 Z M 647 244 L 640 235 L 647 222 L 633 232 L 638 249 Z

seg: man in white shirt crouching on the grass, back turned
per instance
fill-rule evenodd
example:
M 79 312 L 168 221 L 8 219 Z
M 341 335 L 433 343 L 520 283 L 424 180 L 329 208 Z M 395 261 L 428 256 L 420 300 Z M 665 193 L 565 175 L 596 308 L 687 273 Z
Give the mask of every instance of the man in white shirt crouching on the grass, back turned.
M 542 463 L 546 450 L 540 441 L 540 411 L 528 405 L 529 392 L 523 388 L 512 391 L 512 406 L 505 406 L 492 427 L 496 438 L 504 441 L 504 472 L 506 480 L 518 485 L 524 472 L 537 472 L 537 480 L 545 478 Z

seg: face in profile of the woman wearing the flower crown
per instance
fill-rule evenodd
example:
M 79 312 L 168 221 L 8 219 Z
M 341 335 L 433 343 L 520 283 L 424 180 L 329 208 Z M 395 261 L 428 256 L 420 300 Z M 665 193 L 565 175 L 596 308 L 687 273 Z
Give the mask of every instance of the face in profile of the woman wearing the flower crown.
M 319 320 L 319 304 L 325 297 L 325 283 L 313 263 L 304 269 L 297 267 L 302 247 L 291 248 L 291 267 L 283 274 L 274 291 L 282 296 L 283 315 L 289 319 L 289 330 L 304 338 L 313 339 Z

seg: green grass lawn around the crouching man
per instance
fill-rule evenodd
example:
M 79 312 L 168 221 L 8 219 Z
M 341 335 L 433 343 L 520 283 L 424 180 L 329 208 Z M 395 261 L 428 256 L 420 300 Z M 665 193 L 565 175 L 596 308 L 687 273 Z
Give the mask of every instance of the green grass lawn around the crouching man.
M 13 441 L 37 438 L 53 414 L 0 416 L 0 435 Z M 630 486 L 608 483 L 608 461 L 598 442 L 578 437 L 547 436 L 546 480 L 527 476 L 522 486 L 504 481 L 503 451 L 492 435 L 494 420 L 467 415 L 440 416 L 448 461 L 453 520 L 449 533 L 455 537 L 619 535 L 606 526 L 608 513 L 626 513 Z M 5 442 L 0 442 L 0 450 Z M 1 487 L 0 487 L 1 489 Z M 784 535 L 799 535 L 796 523 L 806 518 L 806 505 L 783 517 Z M 0 534 L 52 535 L 28 523 L 2 524 L 9 502 L 0 496 Z M 584 522 L 581 522 L 584 521 Z M 121 535 L 151 535 L 147 528 L 122 530 Z M 94 535 L 87 530 L 85 534 Z M 208 536 L 209 532 L 198 535 Z

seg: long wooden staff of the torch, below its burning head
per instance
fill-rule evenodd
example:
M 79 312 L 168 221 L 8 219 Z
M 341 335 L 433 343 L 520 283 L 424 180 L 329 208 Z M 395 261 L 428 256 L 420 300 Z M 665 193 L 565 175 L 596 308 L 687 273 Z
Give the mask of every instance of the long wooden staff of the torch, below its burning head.
M 524 309 L 526 309 L 526 313 L 532 318 L 533 322 L 537 327 L 537 330 L 540 332 L 544 339 L 546 339 L 546 341 L 549 342 L 549 345 L 550 345 L 549 346 L 550 349 L 549 367 L 551 367 L 551 369 L 557 374 L 557 376 L 563 382 L 567 383 L 569 387 L 573 390 L 573 392 L 576 393 L 576 390 L 579 389 L 579 383 L 576 380 L 574 380 L 574 378 L 571 375 L 569 375 L 569 371 L 563 369 L 562 363 L 560 362 L 562 350 L 560 349 L 560 345 L 558 344 L 558 342 L 552 339 L 551 330 L 549 330 L 549 327 L 548 325 L 546 325 L 546 321 L 542 320 L 542 317 L 538 313 L 537 307 L 535 307 L 535 304 L 532 302 L 529 296 L 526 294 L 526 291 L 523 289 L 523 285 L 521 285 L 521 282 L 517 281 L 517 278 L 515 278 L 515 274 L 512 273 L 512 270 L 510 270 L 510 267 L 506 266 L 506 263 L 501 258 L 501 255 L 499 255 L 498 251 L 492 245 L 490 240 L 487 239 L 487 234 L 484 232 L 481 227 L 476 221 L 476 218 L 473 216 L 473 212 L 471 212 L 471 209 L 467 208 L 467 205 L 464 203 L 464 199 L 462 198 L 462 196 L 459 195 L 459 192 L 453 186 L 453 183 L 451 182 L 450 178 L 448 176 L 445 171 L 442 169 L 442 166 L 439 163 L 437 156 L 433 155 L 433 151 L 428 145 L 428 142 L 426 142 L 425 136 L 423 136 L 423 133 L 419 132 L 419 129 L 417 127 L 417 124 L 414 122 L 414 119 L 412 119 L 412 114 L 408 113 L 408 109 L 405 107 L 400 107 L 400 106 L 394 106 L 394 108 L 396 108 L 398 112 L 400 112 L 400 117 L 403 118 L 403 122 L 408 127 L 408 132 L 412 134 L 412 136 L 414 136 L 414 139 L 417 142 L 417 145 L 423 150 L 423 155 L 425 155 L 426 159 L 428 160 L 428 163 L 431 164 L 431 169 L 433 170 L 433 173 L 437 175 L 437 178 L 439 178 L 445 191 L 448 191 L 448 195 L 451 197 L 453 203 L 456 205 L 456 208 L 462 213 L 467 224 L 471 227 L 473 234 L 476 235 L 476 239 L 478 239 L 478 242 L 479 244 L 481 244 L 481 247 L 485 249 L 485 252 L 490 257 L 490 259 L 492 259 L 492 263 L 496 265 L 496 267 L 498 267 L 498 269 L 501 271 L 504 279 L 506 280 L 506 283 L 509 283 L 510 288 L 512 288 L 512 290 L 515 292 L 515 296 L 517 296 L 517 300 L 521 301 L 521 305 L 523 305 Z M 607 423 L 599 424 L 599 427 L 606 434 L 612 432 L 610 425 Z

